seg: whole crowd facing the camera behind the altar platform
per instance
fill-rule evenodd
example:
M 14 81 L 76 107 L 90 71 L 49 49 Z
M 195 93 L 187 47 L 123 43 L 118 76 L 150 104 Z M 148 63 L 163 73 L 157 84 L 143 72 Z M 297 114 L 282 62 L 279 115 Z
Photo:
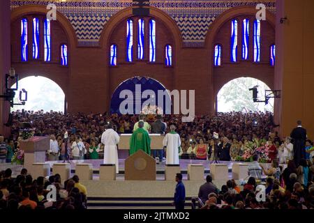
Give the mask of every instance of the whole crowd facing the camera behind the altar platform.
M 112 123 L 118 133 L 131 133 L 135 123 L 141 117 L 118 116 L 117 114 L 62 114 L 61 112 L 33 112 L 17 111 L 12 113 L 11 136 L 5 139 L 8 145 L 7 162 L 10 162 L 13 152 L 19 147 L 22 139 L 21 130 L 24 123 L 29 123 L 33 128 L 33 134 L 37 136 L 51 136 L 52 144 L 49 160 L 63 160 L 66 151 L 73 159 L 98 159 L 102 155 L 103 144 L 100 142 L 101 134 L 105 131 L 107 123 Z M 156 116 L 147 115 L 144 128 L 151 133 L 159 133 L 151 129 L 151 124 L 156 121 Z M 197 155 L 198 151 L 207 151 L 209 158 L 213 151 L 211 147 L 216 143 L 214 132 L 217 133 L 221 142 L 232 145 L 232 157 L 221 154 L 220 160 L 236 157 L 236 151 L 241 153 L 241 147 L 245 141 L 251 141 L 255 137 L 268 139 L 272 132 L 274 121 L 271 113 L 262 112 L 231 112 L 218 113 L 215 116 L 196 116 L 193 122 L 183 123 L 179 115 L 163 116 L 163 123 L 170 126 L 176 123 L 177 133 L 181 137 L 181 153 L 190 158 L 207 159 L 207 155 Z M 166 129 L 163 130 L 165 133 Z M 70 143 L 66 144 L 65 133 L 68 132 Z M 225 141 L 227 140 L 227 141 Z M 222 144 L 223 145 L 223 144 Z M 225 145 L 225 144 L 224 144 Z M 68 148 L 65 148 L 68 147 Z M 10 151 L 10 152 L 9 152 Z M 12 151 L 12 152 L 11 152 Z M 238 154 L 239 154 L 238 153 Z M 156 156 L 156 154 L 155 154 Z M 160 153 L 160 159 L 164 157 Z

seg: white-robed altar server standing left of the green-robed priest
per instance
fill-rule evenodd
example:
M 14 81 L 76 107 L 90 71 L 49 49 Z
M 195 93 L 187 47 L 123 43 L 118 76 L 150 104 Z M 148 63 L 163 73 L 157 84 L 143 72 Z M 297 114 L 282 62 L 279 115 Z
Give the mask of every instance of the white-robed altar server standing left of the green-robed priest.
M 101 142 L 105 145 L 103 163 L 115 164 L 116 173 L 119 174 L 118 148 L 120 137 L 119 134 L 112 129 L 112 125 L 108 124 L 105 132 L 101 136 Z

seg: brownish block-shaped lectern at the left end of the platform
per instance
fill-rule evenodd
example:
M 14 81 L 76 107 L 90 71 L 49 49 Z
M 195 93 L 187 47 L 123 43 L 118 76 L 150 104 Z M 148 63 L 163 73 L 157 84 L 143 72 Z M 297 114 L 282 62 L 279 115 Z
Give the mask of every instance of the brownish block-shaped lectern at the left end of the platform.
M 24 151 L 24 167 L 31 173 L 33 163 L 43 163 L 46 151 L 50 148 L 50 137 L 32 137 L 22 140 L 20 148 Z

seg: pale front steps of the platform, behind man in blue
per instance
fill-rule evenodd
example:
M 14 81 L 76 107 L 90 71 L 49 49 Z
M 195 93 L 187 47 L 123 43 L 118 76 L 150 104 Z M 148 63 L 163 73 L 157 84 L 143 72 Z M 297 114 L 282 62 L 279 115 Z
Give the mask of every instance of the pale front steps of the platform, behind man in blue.
M 186 208 L 191 198 L 197 197 L 204 180 L 184 180 Z M 173 180 L 101 181 L 82 180 L 87 187 L 89 209 L 174 209 L 172 206 L 177 183 Z M 220 189 L 225 181 L 214 181 Z

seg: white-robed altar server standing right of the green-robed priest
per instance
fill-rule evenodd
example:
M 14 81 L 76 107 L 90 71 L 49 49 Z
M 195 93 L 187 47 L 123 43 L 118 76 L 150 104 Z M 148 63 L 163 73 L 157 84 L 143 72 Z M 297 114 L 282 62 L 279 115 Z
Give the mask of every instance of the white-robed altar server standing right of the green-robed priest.
M 175 130 L 176 126 L 170 125 L 170 132 L 163 139 L 163 146 L 166 147 L 166 164 L 179 164 L 181 139 Z

